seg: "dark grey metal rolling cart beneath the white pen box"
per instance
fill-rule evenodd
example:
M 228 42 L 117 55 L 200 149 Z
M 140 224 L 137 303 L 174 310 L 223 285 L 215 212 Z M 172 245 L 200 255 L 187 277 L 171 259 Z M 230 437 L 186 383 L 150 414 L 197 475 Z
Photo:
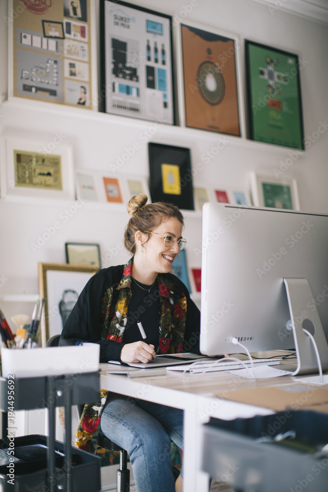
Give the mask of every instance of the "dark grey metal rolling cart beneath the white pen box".
M 9 395 L 14 395 L 14 400 L 8 400 Z M 0 492 L 99 492 L 99 458 L 71 445 L 72 405 L 99 398 L 99 371 L 17 379 L 0 377 L 0 411 L 4 412 L 0 451 L 15 459 L 10 461 L 9 467 L 8 463 L 0 465 Z M 47 408 L 49 435 L 11 437 L 8 408 L 13 406 L 15 411 Z M 55 440 L 58 406 L 63 406 L 65 411 L 64 443 Z M 13 482 L 8 482 L 10 469 L 14 470 Z

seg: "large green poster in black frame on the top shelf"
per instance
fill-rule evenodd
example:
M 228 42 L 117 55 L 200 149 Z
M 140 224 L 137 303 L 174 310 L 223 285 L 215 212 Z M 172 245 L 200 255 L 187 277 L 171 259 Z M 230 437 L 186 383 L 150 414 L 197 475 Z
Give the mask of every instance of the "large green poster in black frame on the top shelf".
M 245 40 L 252 140 L 304 150 L 298 55 Z

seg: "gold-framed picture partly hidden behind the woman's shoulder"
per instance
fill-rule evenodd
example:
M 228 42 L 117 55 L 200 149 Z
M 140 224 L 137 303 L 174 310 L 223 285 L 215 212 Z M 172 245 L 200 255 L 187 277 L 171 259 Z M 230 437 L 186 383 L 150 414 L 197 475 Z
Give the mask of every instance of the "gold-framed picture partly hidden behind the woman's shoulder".
M 83 287 L 97 272 L 95 266 L 39 263 L 40 299 L 45 299 L 41 318 L 42 346 L 59 335 Z

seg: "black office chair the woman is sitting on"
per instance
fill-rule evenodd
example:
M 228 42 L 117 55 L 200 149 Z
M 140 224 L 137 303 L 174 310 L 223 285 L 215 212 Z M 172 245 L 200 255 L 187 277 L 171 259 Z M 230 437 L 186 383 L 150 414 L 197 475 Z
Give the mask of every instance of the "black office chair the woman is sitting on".
M 60 335 L 54 335 L 46 342 L 47 347 L 58 347 Z M 84 405 L 77 405 L 81 417 Z M 109 451 L 119 451 L 119 468 L 117 471 L 117 492 L 130 491 L 130 470 L 127 468 L 127 452 L 115 442 L 111 441 L 101 431 L 98 437 L 98 445 Z

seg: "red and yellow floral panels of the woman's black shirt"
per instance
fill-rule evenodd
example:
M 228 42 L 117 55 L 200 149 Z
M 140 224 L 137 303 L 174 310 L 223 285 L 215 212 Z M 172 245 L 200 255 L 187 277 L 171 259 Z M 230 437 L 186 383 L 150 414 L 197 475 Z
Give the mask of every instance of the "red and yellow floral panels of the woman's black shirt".
M 133 257 L 124 266 L 119 284 L 106 290 L 100 307 L 101 338 L 122 342 L 127 321 L 128 304 L 132 297 Z M 159 349 L 161 354 L 180 353 L 183 350 L 184 331 L 187 315 L 185 294 L 172 285 L 171 276 L 158 274 L 160 292 Z M 115 298 L 117 298 L 115 302 Z M 96 453 L 102 410 L 108 391 L 101 390 L 101 400 L 85 405 L 76 433 L 78 448 Z

